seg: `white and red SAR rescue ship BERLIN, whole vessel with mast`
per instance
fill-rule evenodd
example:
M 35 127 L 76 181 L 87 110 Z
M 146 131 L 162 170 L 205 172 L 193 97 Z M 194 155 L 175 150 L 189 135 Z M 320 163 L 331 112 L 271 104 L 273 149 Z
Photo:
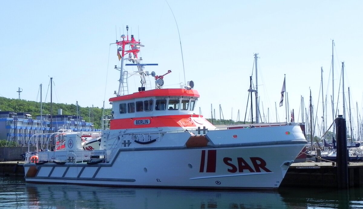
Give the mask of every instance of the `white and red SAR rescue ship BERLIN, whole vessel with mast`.
M 156 88 L 146 90 L 149 73 L 143 67 L 147 64 L 138 58 L 143 45 L 132 35 L 131 39 L 121 37 L 116 43 L 121 60 L 119 89 L 109 100 L 113 118 L 110 128 L 102 132 L 100 149 L 84 150 L 81 133 L 65 134 L 65 149 L 38 152 L 26 159 L 26 182 L 278 188 L 307 143 L 298 124 L 216 128 L 194 113 L 199 93 L 192 81 L 184 88 L 167 89 L 163 88 L 167 73 L 156 76 L 153 72 Z M 126 91 L 125 60 L 137 66 L 136 74 L 142 79 L 139 91 L 132 94 Z

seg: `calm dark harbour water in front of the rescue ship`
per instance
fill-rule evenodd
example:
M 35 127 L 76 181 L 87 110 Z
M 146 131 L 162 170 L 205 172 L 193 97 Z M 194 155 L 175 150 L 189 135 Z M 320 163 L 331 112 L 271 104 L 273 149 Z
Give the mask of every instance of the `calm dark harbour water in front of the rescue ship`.
M 278 191 L 113 188 L 29 184 L 0 177 L 0 208 L 363 208 L 363 189 Z

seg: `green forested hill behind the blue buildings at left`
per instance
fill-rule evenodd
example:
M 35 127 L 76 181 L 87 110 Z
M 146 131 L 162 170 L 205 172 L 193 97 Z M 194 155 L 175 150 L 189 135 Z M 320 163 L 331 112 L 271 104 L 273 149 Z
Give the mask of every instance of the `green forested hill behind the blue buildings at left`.
M 43 114 L 50 114 L 50 103 L 42 103 L 42 107 Z M 62 114 L 77 115 L 77 105 L 74 104 L 53 103 L 52 108 L 53 115 L 58 114 L 58 109 L 62 109 Z M 36 119 L 36 116 L 40 115 L 40 103 L 0 97 L 0 111 L 29 112 L 33 119 Z M 111 109 L 105 109 L 105 114 L 110 115 Z M 93 118 L 95 128 L 101 128 L 102 108 L 78 106 L 78 115 L 86 122 L 92 121 Z

